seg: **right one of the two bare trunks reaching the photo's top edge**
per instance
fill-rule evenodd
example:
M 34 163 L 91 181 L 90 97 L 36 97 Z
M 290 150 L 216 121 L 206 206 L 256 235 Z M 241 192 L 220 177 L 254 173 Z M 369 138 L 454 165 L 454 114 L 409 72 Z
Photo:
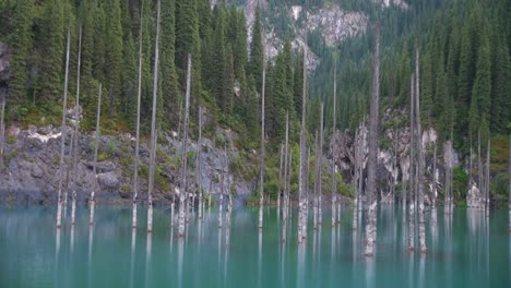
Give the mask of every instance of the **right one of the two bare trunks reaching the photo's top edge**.
M 151 118 L 151 155 L 150 155 L 150 175 L 148 175 L 148 194 L 147 194 L 147 232 L 153 231 L 153 190 L 154 190 L 154 165 L 156 158 L 156 108 L 157 108 L 157 89 L 158 89 L 158 60 L 159 60 L 159 12 L 161 0 L 157 4 L 156 14 L 156 44 L 154 56 L 154 82 L 153 82 L 153 113 Z M 189 60 L 190 61 L 190 60 Z

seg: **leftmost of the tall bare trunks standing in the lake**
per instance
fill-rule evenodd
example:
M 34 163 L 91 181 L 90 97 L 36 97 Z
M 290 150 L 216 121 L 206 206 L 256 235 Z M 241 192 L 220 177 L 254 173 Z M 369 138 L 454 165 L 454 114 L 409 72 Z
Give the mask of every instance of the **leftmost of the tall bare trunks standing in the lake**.
M 59 164 L 59 193 L 57 204 L 57 228 L 62 225 L 62 185 L 63 185 L 63 166 L 64 166 L 64 148 L 66 148 L 66 110 L 68 109 L 68 82 L 69 82 L 69 46 L 70 46 L 70 31 L 68 28 L 68 48 L 66 51 L 66 80 L 64 80 L 64 95 L 62 104 L 62 129 L 60 135 L 60 164 Z

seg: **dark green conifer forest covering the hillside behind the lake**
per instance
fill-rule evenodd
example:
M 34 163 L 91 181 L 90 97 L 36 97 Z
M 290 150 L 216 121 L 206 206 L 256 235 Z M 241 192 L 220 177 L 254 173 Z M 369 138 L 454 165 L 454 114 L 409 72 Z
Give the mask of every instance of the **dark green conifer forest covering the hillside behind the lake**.
M 179 130 L 185 106 L 186 56 L 192 55 L 191 134 L 198 134 L 199 106 L 207 111 L 206 136 L 217 127 L 237 132 L 242 148 L 259 148 L 262 69 L 266 67 L 265 109 L 269 157 L 276 159 L 285 134 L 297 142 L 302 85 L 304 0 L 260 1 L 253 19 L 249 2 L 162 0 L 162 37 L 157 123 Z M 440 142 L 454 139 L 461 159 L 480 135 L 508 133 L 511 122 L 511 1 L 354 1 L 309 0 L 306 9 L 360 13 L 367 27 L 328 45 L 317 26 L 308 29 L 308 49 L 318 65 L 308 70 L 308 134 L 319 125 L 320 100 L 325 124 L 332 119 L 334 63 L 337 64 L 336 127 L 357 127 L 368 112 L 372 27 L 381 24 L 380 109 L 407 109 L 414 47 L 420 48 L 421 121 L 439 131 Z M 246 15 L 247 11 L 247 15 Z M 252 17 L 252 15 L 250 15 Z M 143 21 L 141 21 L 143 19 Z M 142 52 L 142 132 L 148 134 L 152 68 L 156 31 L 154 0 L 0 0 L 0 41 L 10 48 L 7 119 L 16 124 L 57 123 L 61 116 L 64 46 L 71 35 L 70 92 L 76 92 L 79 35 L 82 33 L 82 128 L 94 127 L 97 87 L 103 84 L 106 131 L 132 132 L 135 123 L 139 53 Z M 247 24 L 249 23 L 250 26 Z M 309 22 L 307 22 L 309 23 Z M 139 51 L 140 28 L 143 31 Z M 263 32 L 263 33 L 261 33 Z M 265 37 L 282 40 L 264 61 Z M 250 39 L 250 41 L 248 40 Z M 394 119 L 405 127 L 408 119 Z M 329 123 L 330 122 L 330 123 Z M 325 135 L 330 137 L 331 131 Z M 277 160 L 274 160 L 276 166 Z

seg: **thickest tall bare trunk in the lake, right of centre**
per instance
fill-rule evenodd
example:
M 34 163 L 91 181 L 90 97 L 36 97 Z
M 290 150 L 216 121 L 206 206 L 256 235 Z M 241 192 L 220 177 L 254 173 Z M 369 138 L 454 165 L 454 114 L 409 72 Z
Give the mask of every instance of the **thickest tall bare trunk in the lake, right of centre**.
M 368 160 L 368 179 L 367 179 L 367 199 L 368 212 L 366 219 L 366 244 L 364 254 L 366 256 L 375 255 L 375 247 L 377 241 L 377 205 L 378 193 L 376 187 L 376 168 L 378 153 L 378 121 L 380 107 L 380 24 L 378 23 L 375 31 L 376 44 L 375 56 L 372 63 L 372 92 L 371 92 L 371 108 L 369 121 L 369 160 Z

